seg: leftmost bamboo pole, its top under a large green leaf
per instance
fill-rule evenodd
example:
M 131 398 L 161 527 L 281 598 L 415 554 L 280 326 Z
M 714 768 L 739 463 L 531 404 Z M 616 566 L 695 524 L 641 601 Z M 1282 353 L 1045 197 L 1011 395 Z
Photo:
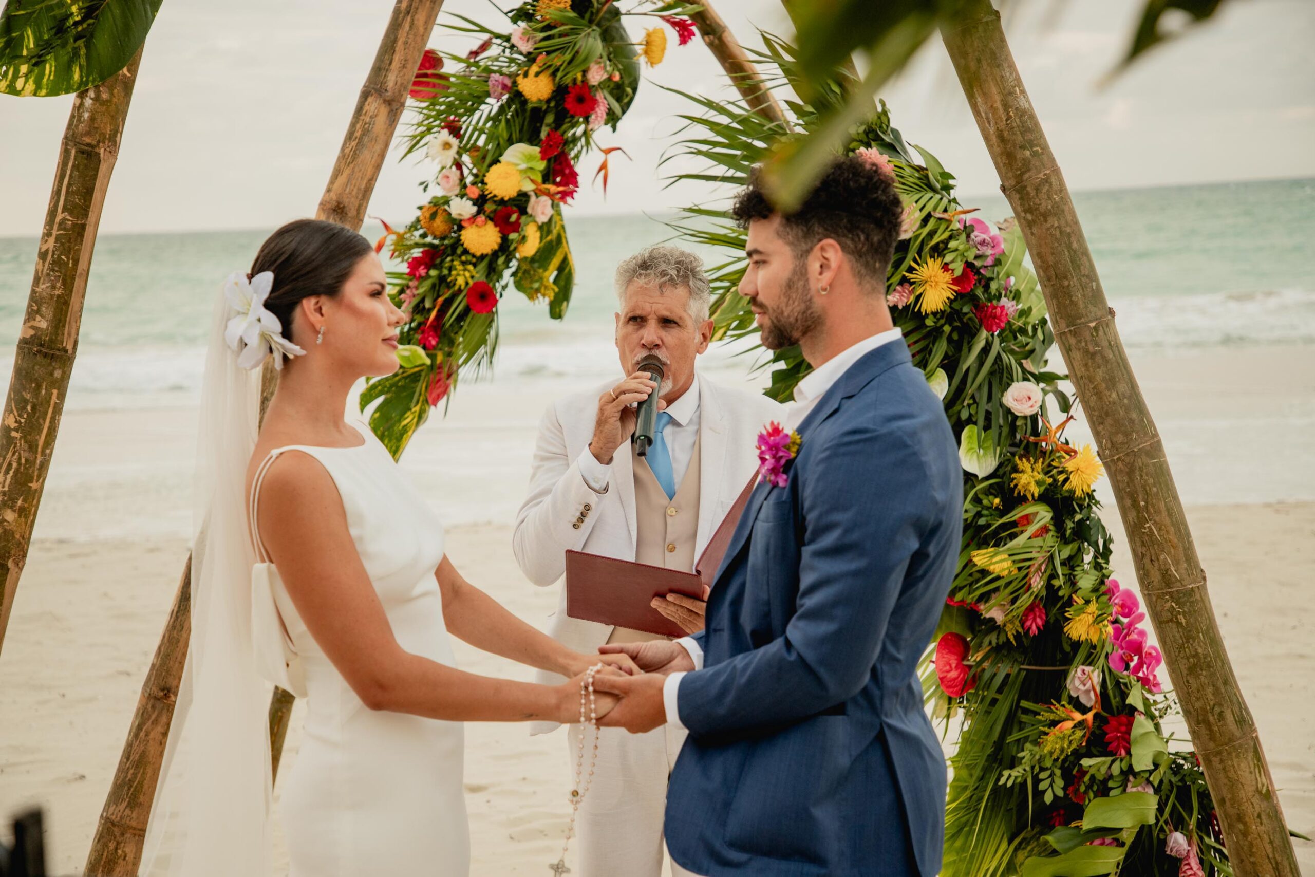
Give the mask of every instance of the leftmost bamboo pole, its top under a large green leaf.
M 78 92 L 64 128 L 0 427 L 0 648 L 64 412 L 96 229 L 141 59 L 138 49 L 121 71 Z

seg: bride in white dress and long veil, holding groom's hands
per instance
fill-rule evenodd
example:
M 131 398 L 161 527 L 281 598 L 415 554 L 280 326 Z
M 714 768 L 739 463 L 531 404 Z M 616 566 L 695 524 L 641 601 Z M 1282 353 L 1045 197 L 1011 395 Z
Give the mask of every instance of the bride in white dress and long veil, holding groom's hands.
M 466 581 L 347 396 L 398 367 L 404 314 L 359 234 L 299 220 L 234 275 L 203 389 L 192 632 L 143 874 L 270 874 L 270 682 L 306 699 L 281 778 L 293 877 L 464 876 L 462 722 L 579 722 L 581 655 Z M 259 366 L 277 391 L 256 429 Z M 245 473 L 245 475 L 243 475 Z M 569 681 L 456 668 L 448 632 Z M 617 669 L 619 668 L 619 669 Z M 598 696 L 601 718 L 613 699 Z

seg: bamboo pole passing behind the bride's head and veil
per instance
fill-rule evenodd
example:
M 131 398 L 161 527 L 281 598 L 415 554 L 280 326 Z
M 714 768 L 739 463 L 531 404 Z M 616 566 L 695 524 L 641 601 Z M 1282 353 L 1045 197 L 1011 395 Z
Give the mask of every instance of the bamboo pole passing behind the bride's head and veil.
M 406 91 L 419 66 L 425 45 L 429 42 L 443 0 L 397 0 L 388 28 L 379 43 L 375 63 L 362 85 L 360 97 L 343 137 L 338 159 L 320 200 L 316 217 L 352 229 L 359 229 L 373 192 L 379 171 L 388 155 L 397 122 L 406 104 Z M 274 394 L 275 381 L 270 369 L 262 380 L 262 412 Z M 118 768 L 110 784 L 105 806 L 92 840 L 84 873 L 96 877 L 132 877 L 137 873 L 142 856 L 146 820 L 155 797 L 168 726 L 174 715 L 171 696 L 147 696 L 147 692 L 176 692 L 187 657 L 189 632 L 188 604 L 191 600 L 191 559 L 184 568 L 183 581 L 174 609 L 160 638 L 160 646 L 151 661 L 142 701 Z M 166 647 L 176 643 L 176 647 Z M 274 749 L 274 769 L 287 734 L 292 696 L 275 689 L 270 703 L 270 734 Z M 149 714 L 149 715 L 147 715 Z M 150 721 L 147 721 L 150 718 Z M 142 728 L 150 728 L 143 731 Z

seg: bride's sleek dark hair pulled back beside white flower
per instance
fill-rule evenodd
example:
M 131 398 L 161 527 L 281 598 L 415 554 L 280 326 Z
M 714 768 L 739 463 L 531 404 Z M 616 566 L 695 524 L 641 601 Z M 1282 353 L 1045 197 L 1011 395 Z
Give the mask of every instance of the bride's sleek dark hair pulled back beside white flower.
M 337 222 L 293 220 L 271 234 L 251 263 L 251 275 L 274 272 L 266 309 L 279 318 L 283 337 L 292 341 L 292 314 L 309 296 L 337 296 L 356 264 L 373 247 Z

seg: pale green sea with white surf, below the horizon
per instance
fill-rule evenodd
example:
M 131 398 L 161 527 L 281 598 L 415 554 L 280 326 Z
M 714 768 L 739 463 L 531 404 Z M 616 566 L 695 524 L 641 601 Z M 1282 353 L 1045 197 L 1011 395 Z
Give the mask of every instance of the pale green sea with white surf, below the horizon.
M 1074 197 L 1106 296 L 1130 348 L 1315 343 L 1315 179 L 1080 193 Z M 999 196 L 964 199 L 999 220 Z M 548 320 L 512 291 L 488 379 L 610 373 L 615 263 L 667 239 L 664 217 L 571 217 L 579 266 L 571 309 Z M 377 226 L 367 227 L 373 235 Z M 68 408 L 188 405 L 196 400 L 213 296 L 250 266 L 268 230 L 103 235 L 96 245 Z M 36 262 L 36 238 L 0 238 L 0 350 L 12 348 Z M 710 254 L 725 258 L 723 254 Z M 751 358 L 711 351 L 706 366 Z M 11 358 L 3 358 L 8 376 Z

